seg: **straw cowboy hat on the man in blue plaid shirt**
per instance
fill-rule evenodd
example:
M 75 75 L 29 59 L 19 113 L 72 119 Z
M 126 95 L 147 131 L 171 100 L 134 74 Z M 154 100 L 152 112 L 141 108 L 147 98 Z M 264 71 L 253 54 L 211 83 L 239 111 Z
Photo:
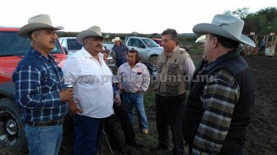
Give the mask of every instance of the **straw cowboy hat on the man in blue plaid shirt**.
M 57 26 L 54 27 L 52 25 L 52 21 L 47 14 L 39 14 L 35 17 L 31 17 L 28 20 L 28 24 L 22 26 L 19 31 L 18 35 L 20 37 L 28 38 L 28 35 L 30 32 L 33 32 L 35 30 L 42 30 L 42 29 L 51 29 L 51 30 L 62 30 L 64 27 Z

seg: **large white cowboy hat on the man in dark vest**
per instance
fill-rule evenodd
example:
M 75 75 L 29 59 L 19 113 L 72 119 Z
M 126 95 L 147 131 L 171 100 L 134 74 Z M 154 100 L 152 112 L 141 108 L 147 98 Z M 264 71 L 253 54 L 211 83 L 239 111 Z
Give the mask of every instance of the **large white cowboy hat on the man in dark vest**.
M 246 43 L 256 47 L 255 43 L 242 34 L 244 21 L 226 14 L 217 14 L 213 17 L 212 23 L 199 23 L 193 27 L 196 34 L 217 34 L 234 41 Z

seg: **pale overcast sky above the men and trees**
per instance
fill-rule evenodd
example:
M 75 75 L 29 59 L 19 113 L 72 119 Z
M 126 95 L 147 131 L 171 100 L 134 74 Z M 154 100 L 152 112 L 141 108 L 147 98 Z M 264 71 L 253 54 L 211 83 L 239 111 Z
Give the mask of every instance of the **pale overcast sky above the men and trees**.
M 190 33 L 197 23 L 211 23 L 215 14 L 244 7 L 250 12 L 277 8 L 277 0 L 5 0 L 0 26 L 21 27 L 30 17 L 49 14 L 53 25 L 62 25 L 66 32 L 98 25 L 112 33 L 150 34 L 167 28 Z

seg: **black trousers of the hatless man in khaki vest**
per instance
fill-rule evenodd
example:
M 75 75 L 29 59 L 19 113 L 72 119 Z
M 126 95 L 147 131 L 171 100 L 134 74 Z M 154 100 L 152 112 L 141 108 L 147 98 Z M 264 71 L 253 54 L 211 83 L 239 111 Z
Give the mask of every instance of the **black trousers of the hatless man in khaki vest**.
M 174 144 L 173 154 L 184 153 L 184 140 L 181 131 L 181 119 L 184 112 L 186 93 L 178 96 L 161 96 L 156 94 L 156 121 L 159 134 L 159 145 L 168 147 L 168 130 L 172 131 Z

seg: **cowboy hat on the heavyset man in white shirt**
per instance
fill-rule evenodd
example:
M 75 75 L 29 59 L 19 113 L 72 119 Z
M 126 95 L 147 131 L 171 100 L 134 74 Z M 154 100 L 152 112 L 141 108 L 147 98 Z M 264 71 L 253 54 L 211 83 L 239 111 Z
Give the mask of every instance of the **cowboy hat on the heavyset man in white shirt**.
M 76 38 L 78 43 L 83 45 L 84 39 L 87 37 L 100 37 L 102 39 L 107 39 L 109 38 L 109 34 L 106 34 L 105 37 L 102 37 L 101 29 L 99 28 L 99 26 L 94 25 L 87 30 L 83 30 L 82 32 L 79 32 Z

